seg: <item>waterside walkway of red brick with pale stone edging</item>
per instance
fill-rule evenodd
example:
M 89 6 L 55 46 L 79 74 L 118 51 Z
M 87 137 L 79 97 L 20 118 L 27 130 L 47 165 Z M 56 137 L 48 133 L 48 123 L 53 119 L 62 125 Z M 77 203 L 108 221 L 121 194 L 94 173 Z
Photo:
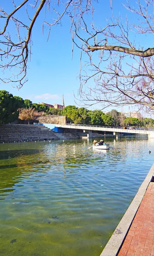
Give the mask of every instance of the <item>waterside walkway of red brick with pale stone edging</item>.
M 154 256 L 154 165 L 100 256 Z

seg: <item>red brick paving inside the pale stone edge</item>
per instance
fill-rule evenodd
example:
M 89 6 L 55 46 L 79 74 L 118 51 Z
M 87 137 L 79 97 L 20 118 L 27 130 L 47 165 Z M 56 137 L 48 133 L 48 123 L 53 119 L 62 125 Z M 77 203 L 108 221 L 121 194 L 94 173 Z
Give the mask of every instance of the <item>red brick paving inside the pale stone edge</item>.
M 118 256 L 154 256 L 154 182 L 150 182 Z

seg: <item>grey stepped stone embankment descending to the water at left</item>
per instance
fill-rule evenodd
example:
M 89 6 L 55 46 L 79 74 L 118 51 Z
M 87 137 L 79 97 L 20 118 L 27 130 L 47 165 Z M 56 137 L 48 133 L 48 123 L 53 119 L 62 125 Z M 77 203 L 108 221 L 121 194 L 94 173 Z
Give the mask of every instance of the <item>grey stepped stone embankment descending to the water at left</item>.
M 0 125 L 0 142 L 79 139 L 78 134 L 57 134 L 43 125 Z

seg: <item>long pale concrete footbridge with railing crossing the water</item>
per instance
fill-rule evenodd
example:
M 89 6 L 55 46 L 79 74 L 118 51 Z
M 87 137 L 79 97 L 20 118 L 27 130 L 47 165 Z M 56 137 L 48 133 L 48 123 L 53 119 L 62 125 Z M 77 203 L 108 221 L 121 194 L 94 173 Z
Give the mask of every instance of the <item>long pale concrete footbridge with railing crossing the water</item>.
M 134 130 L 123 129 L 122 127 L 111 127 L 111 126 L 97 126 L 97 125 L 74 125 L 74 124 L 65 124 L 57 125 L 56 127 L 69 128 L 69 129 L 82 129 L 84 132 L 87 132 L 87 138 L 91 138 L 92 131 L 112 131 L 113 135 L 116 137 L 120 136 L 120 133 L 131 133 L 131 134 L 143 134 L 148 135 L 148 138 L 154 138 L 154 128 L 135 128 Z

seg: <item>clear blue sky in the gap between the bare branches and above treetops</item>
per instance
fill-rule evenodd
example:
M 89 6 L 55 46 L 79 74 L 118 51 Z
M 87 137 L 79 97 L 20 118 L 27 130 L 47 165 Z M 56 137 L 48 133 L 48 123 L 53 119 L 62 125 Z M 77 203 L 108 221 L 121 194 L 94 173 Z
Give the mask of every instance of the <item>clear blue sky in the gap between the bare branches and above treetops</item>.
M 4 2 L 3 4 L 0 3 L 3 9 L 9 8 L 11 10 L 11 0 Z M 22 1 L 16 0 L 15 2 L 21 3 Z M 29 0 L 29 2 L 31 1 Z M 118 16 L 119 12 L 122 12 L 124 16 L 126 15 L 127 11 L 122 6 L 122 3 L 125 2 L 125 0 L 113 0 L 115 16 Z M 134 0 L 131 0 L 131 3 L 134 3 Z M 96 5 L 96 10 L 95 19 L 98 24 L 102 25 L 106 18 L 111 15 L 110 0 L 100 0 L 98 6 Z M 32 32 L 33 45 L 31 61 L 28 64 L 28 82 L 20 90 L 14 88 L 12 84 L 0 84 L 0 90 L 7 90 L 14 96 L 20 96 L 23 99 L 30 99 L 33 103 L 45 102 L 62 105 L 64 95 L 65 106 L 75 105 L 74 93 L 77 96 L 80 87 L 78 79 L 80 50 L 74 47 L 73 59 L 71 60 L 70 20 L 65 16 L 62 20 L 62 26 L 52 27 L 47 42 L 48 33 L 44 30 L 43 35 L 42 30 L 42 23 L 45 20 L 44 13 L 43 9 Z M 47 19 L 49 20 L 49 15 L 47 15 Z M 87 20 L 90 22 L 90 17 Z

